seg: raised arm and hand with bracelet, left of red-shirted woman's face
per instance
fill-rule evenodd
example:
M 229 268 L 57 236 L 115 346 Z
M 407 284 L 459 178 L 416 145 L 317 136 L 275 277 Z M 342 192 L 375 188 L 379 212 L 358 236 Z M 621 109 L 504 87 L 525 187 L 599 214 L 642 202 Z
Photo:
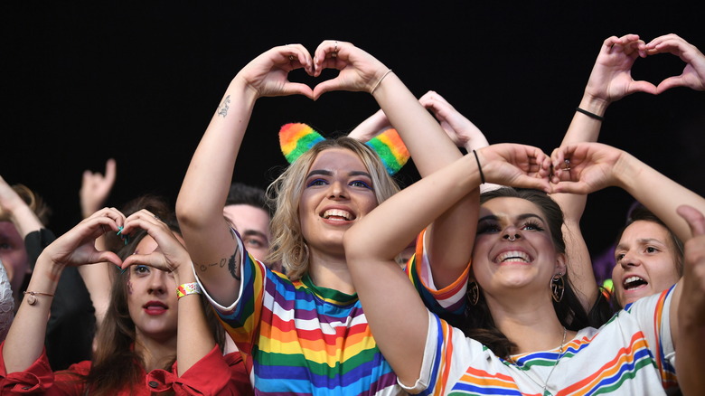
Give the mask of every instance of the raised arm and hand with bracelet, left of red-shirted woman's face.
M 42 354 L 52 297 L 64 268 L 105 261 L 121 264 L 115 253 L 96 250 L 95 240 L 105 231 L 118 231 L 124 220 L 117 210 L 103 209 L 44 249 L 5 339 L 3 360 L 7 373 L 26 370 Z

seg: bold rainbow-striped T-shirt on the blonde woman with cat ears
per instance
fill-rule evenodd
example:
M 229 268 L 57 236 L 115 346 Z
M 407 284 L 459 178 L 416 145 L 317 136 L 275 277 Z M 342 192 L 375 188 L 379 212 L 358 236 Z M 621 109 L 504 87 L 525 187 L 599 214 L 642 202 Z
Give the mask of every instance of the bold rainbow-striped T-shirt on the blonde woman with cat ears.
M 240 247 L 242 247 L 240 242 Z M 258 395 L 397 395 L 356 295 L 290 281 L 249 255 L 233 306 L 216 307 Z

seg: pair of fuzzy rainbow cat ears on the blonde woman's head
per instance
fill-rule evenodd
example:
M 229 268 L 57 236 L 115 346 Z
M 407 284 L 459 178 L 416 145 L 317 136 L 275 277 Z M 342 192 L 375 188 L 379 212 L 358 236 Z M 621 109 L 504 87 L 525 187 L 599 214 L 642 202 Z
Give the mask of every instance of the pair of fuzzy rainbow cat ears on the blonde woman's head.
M 289 164 L 324 139 L 313 127 L 303 123 L 291 123 L 279 129 L 279 146 Z M 409 160 L 407 146 L 404 146 L 396 129 L 385 130 L 365 145 L 380 156 L 388 174 L 396 174 Z

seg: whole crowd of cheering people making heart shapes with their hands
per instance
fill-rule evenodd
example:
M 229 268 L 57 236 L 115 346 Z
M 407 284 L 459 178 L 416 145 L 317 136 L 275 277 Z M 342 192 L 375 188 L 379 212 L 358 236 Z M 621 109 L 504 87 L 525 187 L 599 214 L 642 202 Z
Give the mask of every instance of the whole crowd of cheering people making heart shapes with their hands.
M 659 53 L 681 75 L 634 80 Z M 311 88 L 288 80 L 299 69 L 339 73 Z M 612 102 L 675 87 L 705 90 L 695 46 L 606 39 L 544 153 L 491 145 L 350 42 L 274 47 L 230 82 L 174 208 L 151 195 L 102 208 L 108 160 L 57 238 L 42 199 L 0 177 L 0 393 L 703 394 L 705 198 L 597 143 Z M 346 136 L 287 130 L 290 165 L 267 191 L 232 184 L 259 98 L 334 90 L 381 109 Z M 402 153 L 421 175 L 403 189 Z M 638 202 L 612 290 L 580 230 L 609 186 Z

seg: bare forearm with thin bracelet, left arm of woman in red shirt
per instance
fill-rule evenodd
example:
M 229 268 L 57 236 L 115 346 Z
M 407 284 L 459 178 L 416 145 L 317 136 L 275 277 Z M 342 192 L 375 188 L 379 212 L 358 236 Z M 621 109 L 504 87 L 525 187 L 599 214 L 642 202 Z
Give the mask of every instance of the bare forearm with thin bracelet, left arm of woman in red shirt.
M 27 291 L 53 295 L 60 277 L 61 268 L 40 256 Z M 30 304 L 31 300 L 34 304 Z M 24 296 L 5 338 L 3 359 L 8 373 L 26 370 L 42 354 L 51 306 L 51 296 Z

